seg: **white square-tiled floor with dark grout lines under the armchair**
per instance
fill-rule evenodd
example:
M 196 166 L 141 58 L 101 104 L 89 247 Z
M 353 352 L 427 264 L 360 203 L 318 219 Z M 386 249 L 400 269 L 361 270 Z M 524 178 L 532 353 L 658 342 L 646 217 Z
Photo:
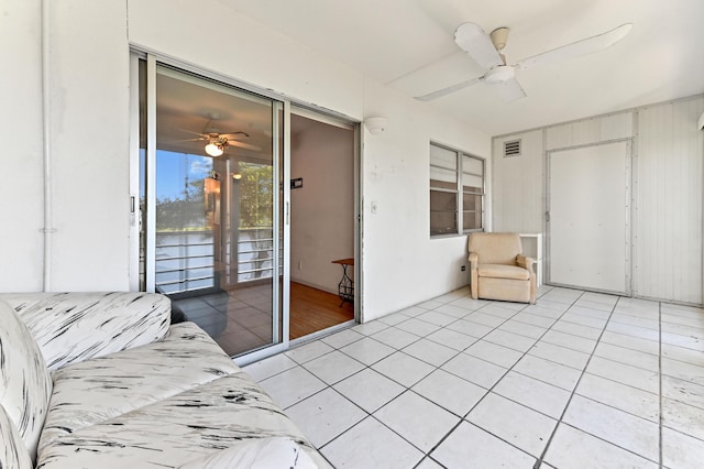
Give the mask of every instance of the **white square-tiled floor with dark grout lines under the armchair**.
M 704 309 L 460 290 L 245 370 L 336 468 L 703 468 Z

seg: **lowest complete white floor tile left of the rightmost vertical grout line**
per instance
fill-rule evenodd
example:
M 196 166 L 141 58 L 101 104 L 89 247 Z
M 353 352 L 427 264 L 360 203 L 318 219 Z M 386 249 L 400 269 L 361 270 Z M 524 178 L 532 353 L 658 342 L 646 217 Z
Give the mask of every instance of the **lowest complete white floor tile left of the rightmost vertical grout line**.
M 653 422 L 574 395 L 563 422 L 646 459 L 659 458 L 659 427 Z

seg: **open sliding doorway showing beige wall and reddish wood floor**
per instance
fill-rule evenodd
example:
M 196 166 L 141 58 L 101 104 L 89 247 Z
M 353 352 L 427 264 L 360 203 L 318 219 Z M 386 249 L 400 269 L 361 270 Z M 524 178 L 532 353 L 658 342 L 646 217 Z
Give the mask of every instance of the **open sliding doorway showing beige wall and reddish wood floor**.
M 292 109 L 290 340 L 354 320 L 355 127 Z M 344 266 L 334 261 L 348 260 Z M 351 263 L 351 264 L 350 264 Z M 341 285 L 343 273 L 350 284 Z

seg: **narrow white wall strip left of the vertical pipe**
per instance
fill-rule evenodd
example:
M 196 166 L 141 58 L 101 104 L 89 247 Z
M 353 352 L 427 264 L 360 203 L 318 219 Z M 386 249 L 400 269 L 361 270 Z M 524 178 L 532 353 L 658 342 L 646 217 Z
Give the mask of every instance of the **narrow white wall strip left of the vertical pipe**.
M 37 291 L 43 250 L 40 2 L 3 1 L 2 13 L 0 290 Z

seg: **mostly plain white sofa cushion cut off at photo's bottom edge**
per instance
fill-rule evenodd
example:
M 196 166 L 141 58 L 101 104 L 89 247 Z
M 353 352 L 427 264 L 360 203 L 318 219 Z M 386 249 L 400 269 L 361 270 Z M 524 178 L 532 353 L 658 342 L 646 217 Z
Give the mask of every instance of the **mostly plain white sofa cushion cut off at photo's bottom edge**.
M 290 438 L 245 440 L 207 458 L 195 459 L 178 469 L 318 469 L 310 456 Z

